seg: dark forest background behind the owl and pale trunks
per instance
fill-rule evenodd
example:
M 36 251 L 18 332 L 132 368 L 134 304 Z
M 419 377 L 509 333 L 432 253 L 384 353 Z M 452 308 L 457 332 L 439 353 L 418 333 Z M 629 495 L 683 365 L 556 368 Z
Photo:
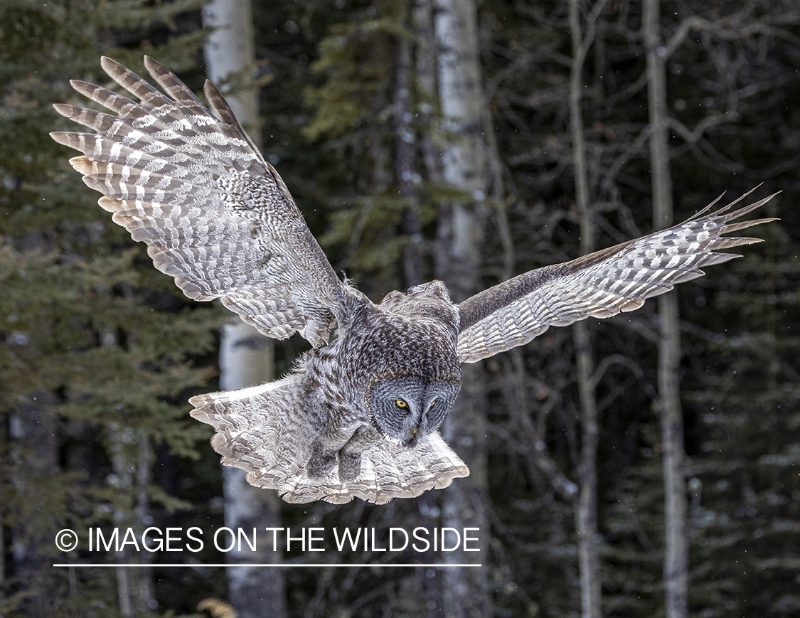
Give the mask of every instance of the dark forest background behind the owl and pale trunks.
M 482 287 L 577 257 L 588 230 L 594 248 L 653 231 L 658 127 L 648 49 L 661 58 L 652 62 L 666 75 L 674 220 L 723 191 L 724 199 L 758 183 L 754 198 L 782 191 L 762 209 L 780 221 L 753 231 L 766 242 L 671 292 L 680 316 L 686 610 L 800 615 L 800 5 L 662 0 L 654 48 L 647 2 L 461 3 L 477 16 L 486 113 L 470 131 L 488 153 L 482 191 L 446 183 L 436 163 L 459 139 L 429 87 L 435 62 L 427 61 L 441 50 L 427 26 L 448 2 L 254 2 L 258 62 L 228 86 L 259 86 L 266 158 L 336 271 L 379 301 L 442 276 L 457 207 L 481 226 L 472 258 Z M 0 616 L 664 616 L 655 301 L 588 320 L 582 335 L 552 328 L 470 374 L 462 397 L 481 402 L 470 414 L 480 415 L 484 439 L 450 438 L 474 472 L 454 487 L 471 496 L 485 540 L 470 581 L 434 568 L 284 568 L 260 588 L 278 608 L 270 613 L 266 604 L 239 607 L 223 568 L 129 576 L 52 567 L 141 559 L 63 554 L 54 546 L 62 528 L 85 536 L 98 526 L 225 523 L 210 427 L 189 417 L 186 400 L 218 389 L 218 333 L 230 315 L 190 302 L 155 271 L 71 170 L 74 153 L 48 137 L 74 128 L 51 106 L 78 102 L 70 78 L 109 85 L 101 54 L 140 74 L 150 54 L 200 91 L 201 4 L 0 0 Z M 276 342 L 276 373 L 306 345 Z M 582 353 L 589 364 L 578 363 Z M 585 431 L 594 423 L 586 383 L 596 435 Z M 381 507 L 281 504 L 273 525 L 433 528 L 463 499 L 449 491 Z M 592 492 L 597 584 L 576 533 L 586 524 L 578 516 L 594 512 L 579 496 Z M 225 556 L 206 549 L 150 560 Z M 587 592 L 593 585 L 602 603 Z M 582 599 L 594 599 L 589 610 Z

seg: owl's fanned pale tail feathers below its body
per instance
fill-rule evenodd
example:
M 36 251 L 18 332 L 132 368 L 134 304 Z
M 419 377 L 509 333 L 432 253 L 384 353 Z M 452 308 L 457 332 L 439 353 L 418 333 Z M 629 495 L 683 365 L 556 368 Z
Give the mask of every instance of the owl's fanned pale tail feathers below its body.
M 384 440 L 362 451 L 361 472 L 342 482 L 338 467 L 322 478 L 308 475 L 310 445 L 318 435 L 300 400 L 302 374 L 256 387 L 197 395 L 191 415 L 214 427 L 211 446 L 226 466 L 242 468 L 247 482 L 275 489 L 291 503 L 326 500 L 336 504 L 358 497 L 385 504 L 419 496 L 468 476 L 469 468 L 438 433 L 414 448 Z

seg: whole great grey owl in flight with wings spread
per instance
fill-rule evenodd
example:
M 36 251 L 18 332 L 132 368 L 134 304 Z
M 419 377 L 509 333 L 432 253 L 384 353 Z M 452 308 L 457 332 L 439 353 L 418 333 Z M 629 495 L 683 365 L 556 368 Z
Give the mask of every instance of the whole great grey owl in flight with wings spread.
M 772 220 L 730 223 L 771 195 L 736 211 L 711 204 L 667 230 L 526 272 L 458 305 L 441 281 L 376 305 L 338 279 L 278 172 L 210 82 L 209 110 L 152 58 L 145 66 L 166 94 L 101 62 L 138 101 L 72 81 L 114 114 L 57 104 L 94 133 L 51 134 L 83 153 L 70 163 L 103 194 L 100 206 L 190 298 L 221 299 L 263 335 L 299 332 L 313 346 L 282 379 L 190 399 L 194 418 L 214 427 L 222 463 L 287 502 L 382 504 L 467 476 L 438 433 L 461 363 L 550 326 L 638 309 L 738 257 L 715 250 L 758 242 L 722 235 Z

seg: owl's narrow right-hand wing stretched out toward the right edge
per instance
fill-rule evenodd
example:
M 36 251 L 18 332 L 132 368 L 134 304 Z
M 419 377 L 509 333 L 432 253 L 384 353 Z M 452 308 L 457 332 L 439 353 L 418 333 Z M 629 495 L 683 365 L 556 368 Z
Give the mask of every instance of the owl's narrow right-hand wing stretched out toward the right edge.
M 551 326 L 634 311 L 676 283 L 704 275 L 702 267 L 738 258 L 714 251 L 760 243 L 761 239 L 722 235 L 774 221 L 729 223 L 777 194 L 731 212 L 730 207 L 746 195 L 750 192 L 710 212 L 718 198 L 676 226 L 571 262 L 526 272 L 466 299 L 458 305 L 458 359 L 474 363 L 528 343 Z

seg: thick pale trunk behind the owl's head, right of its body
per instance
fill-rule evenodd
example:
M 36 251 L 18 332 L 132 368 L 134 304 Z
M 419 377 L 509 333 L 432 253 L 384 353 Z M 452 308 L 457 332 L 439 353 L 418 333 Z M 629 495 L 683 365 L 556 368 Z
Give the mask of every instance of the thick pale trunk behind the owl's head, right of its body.
M 458 138 L 444 146 L 444 182 L 465 191 L 474 203 L 442 205 L 438 219 L 438 272 L 459 302 L 478 291 L 482 231 L 486 223 L 482 201 L 489 185 L 483 121 L 488 117 L 478 63 L 478 28 L 472 0 L 436 0 L 438 94 L 446 128 Z M 470 476 L 444 492 L 445 525 L 480 528 L 481 560 L 488 560 L 486 520 L 486 400 L 480 365 L 463 367 L 462 391 L 447 420 L 445 439 L 454 443 L 470 466 Z M 462 560 L 449 556 L 450 560 Z M 446 558 L 445 560 L 448 560 Z M 444 573 L 442 596 L 446 616 L 489 616 L 485 568 L 451 568 Z

